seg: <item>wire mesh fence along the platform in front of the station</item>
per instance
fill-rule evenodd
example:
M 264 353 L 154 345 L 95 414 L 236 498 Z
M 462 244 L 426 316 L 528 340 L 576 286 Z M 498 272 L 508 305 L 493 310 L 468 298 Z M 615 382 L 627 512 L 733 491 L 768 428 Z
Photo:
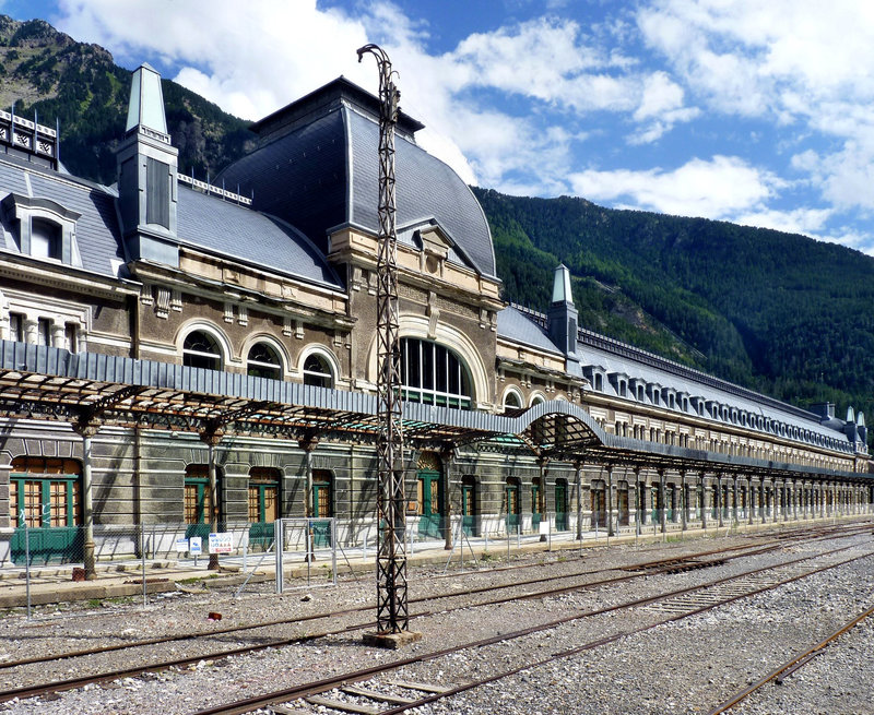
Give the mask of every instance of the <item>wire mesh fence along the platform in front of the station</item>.
M 871 514 L 872 505 L 813 507 L 773 504 L 707 509 L 634 510 L 622 504 L 572 512 L 520 512 L 452 516 L 410 514 L 403 531 L 409 567 L 479 567 L 507 560 L 527 547 L 568 548 L 605 543 L 617 537 L 683 538 L 686 531 L 730 535 L 753 525 Z M 208 524 L 95 525 L 94 558 L 86 571 L 87 533 L 83 526 L 34 527 L 26 520 L 0 536 L 0 597 L 7 589 L 27 592 L 47 583 L 91 579 L 137 585 L 144 604 L 150 595 L 214 574 L 236 574 L 236 595 L 253 583 L 275 582 L 275 591 L 336 584 L 339 572 L 366 569 L 377 556 L 373 520 L 282 519 L 276 522 L 224 523 L 218 532 Z M 279 548 L 277 548 L 279 545 Z M 571 547 L 572 548 L 572 547 Z M 259 574 L 258 579 L 253 576 Z M 263 586 L 261 586 L 263 589 Z M 270 587 L 272 591 L 273 588 Z M 130 588 L 128 589 L 130 591 Z

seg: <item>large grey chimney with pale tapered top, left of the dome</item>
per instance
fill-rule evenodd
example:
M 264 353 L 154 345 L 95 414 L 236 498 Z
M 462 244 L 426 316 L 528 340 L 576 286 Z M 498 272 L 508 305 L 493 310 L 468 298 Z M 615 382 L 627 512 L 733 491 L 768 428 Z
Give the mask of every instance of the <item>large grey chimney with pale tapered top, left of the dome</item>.
M 125 140 L 116 151 L 118 211 L 128 258 L 177 266 L 177 159 L 164 116 L 161 75 L 133 72 Z

